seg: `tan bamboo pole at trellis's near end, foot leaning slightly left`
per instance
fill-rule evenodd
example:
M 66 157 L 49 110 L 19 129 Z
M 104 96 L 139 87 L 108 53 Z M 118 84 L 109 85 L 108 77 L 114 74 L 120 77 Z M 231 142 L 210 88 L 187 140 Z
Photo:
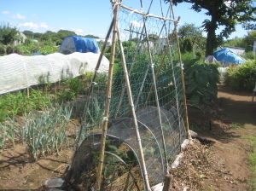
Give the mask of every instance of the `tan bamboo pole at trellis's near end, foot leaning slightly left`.
M 121 0 L 118 0 L 117 3 L 114 5 L 114 16 L 113 16 L 113 37 L 112 37 L 112 49 L 111 49 L 111 56 L 110 56 L 110 63 L 109 63 L 109 70 L 108 70 L 108 89 L 107 89 L 107 97 L 106 97 L 106 104 L 105 104 L 105 112 L 104 117 L 102 120 L 102 143 L 101 143 L 101 150 L 99 156 L 99 164 L 96 173 L 96 190 L 101 189 L 101 181 L 102 181 L 102 168 L 103 168 L 103 160 L 104 160 L 104 151 L 106 147 L 106 136 L 108 130 L 108 117 L 109 117 L 109 107 L 111 101 L 111 92 L 112 92 L 112 80 L 113 80 L 113 65 L 114 65 L 114 54 L 115 54 L 115 45 L 116 45 L 116 38 L 117 38 L 117 23 L 119 17 L 119 8 L 120 8 Z

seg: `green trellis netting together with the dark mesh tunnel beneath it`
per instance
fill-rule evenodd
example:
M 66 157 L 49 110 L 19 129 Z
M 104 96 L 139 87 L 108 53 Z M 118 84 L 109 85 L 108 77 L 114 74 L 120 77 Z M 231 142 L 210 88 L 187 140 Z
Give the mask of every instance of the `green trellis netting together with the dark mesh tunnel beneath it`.
M 175 25 L 120 6 L 113 76 L 109 87 L 99 78 L 91 84 L 84 141 L 74 154 L 69 186 L 149 190 L 163 182 L 187 137 Z

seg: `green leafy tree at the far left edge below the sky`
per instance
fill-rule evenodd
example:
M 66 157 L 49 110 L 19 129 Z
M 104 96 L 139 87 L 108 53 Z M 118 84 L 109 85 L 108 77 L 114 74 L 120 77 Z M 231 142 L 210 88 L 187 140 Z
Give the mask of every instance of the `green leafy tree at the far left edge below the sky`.
M 17 28 L 11 27 L 9 23 L 7 25 L 2 24 L 0 26 L 0 43 L 7 45 L 15 40 L 20 41 L 20 32 Z

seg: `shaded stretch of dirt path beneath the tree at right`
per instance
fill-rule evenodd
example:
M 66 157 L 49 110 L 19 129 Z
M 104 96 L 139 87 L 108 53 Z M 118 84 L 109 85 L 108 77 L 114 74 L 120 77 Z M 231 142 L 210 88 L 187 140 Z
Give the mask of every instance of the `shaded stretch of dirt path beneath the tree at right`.
M 254 97 L 255 98 L 255 97 Z M 200 136 L 228 143 L 241 137 L 245 124 L 256 126 L 256 100 L 250 92 L 218 85 L 218 98 L 207 105 L 188 106 L 189 128 Z

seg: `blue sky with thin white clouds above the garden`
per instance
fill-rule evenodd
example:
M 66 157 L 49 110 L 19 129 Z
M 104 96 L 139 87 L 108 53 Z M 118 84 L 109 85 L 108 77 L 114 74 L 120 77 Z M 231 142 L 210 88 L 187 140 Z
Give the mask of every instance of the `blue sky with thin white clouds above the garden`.
M 167 9 L 162 0 L 154 0 L 149 14 L 161 15 L 160 1 L 163 9 Z M 148 11 L 149 0 L 143 0 L 143 10 Z M 131 9 L 142 11 L 139 0 L 123 0 L 123 4 Z M 58 32 L 68 30 L 78 35 L 94 35 L 105 38 L 113 17 L 112 5 L 109 0 L 0 0 L 0 22 L 16 26 L 20 32 Z M 196 13 L 189 9 L 190 3 L 180 3 L 174 6 L 175 18 L 184 23 L 201 26 L 205 19 L 210 19 L 203 12 Z M 165 11 L 164 11 L 165 12 Z M 218 32 L 218 31 L 217 31 Z M 206 36 L 206 33 L 203 33 Z M 230 38 L 242 38 L 247 31 L 236 26 Z

